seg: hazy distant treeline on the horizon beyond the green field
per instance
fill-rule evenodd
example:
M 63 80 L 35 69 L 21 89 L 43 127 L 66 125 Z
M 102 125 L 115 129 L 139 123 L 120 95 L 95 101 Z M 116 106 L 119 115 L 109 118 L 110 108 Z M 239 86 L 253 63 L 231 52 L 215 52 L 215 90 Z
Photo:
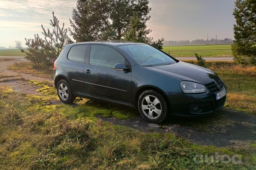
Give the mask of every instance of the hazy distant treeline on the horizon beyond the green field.
M 231 38 L 225 38 L 224 40 L 220 39 L 210 39 L 210 40 L 204 40 L 204 39 L 196 39 L 193 41 L 189 40 L 170 40 L 170 41 L 164 41 L 164 46 L 169 46 L 169 45 L 188 45 L 188 44 L 222 44 L 222 43 L 232 43 L 233 40 Z

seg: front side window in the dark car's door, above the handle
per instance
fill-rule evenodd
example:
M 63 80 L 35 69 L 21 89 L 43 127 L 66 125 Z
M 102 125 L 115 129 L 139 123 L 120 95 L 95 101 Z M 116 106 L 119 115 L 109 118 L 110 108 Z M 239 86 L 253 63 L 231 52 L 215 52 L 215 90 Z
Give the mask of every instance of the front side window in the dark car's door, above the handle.
M 91 45 L 90 65 L 113 68 L 117 63 L 125 63 L 125 58 L 117 50 L 102 45 Z

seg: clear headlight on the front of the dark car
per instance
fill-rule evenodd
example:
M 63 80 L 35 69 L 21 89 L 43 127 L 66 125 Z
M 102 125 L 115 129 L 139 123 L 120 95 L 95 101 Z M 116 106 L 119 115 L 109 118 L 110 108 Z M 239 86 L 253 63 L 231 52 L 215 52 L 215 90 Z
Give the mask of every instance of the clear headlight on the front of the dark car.
M 181 81 L 181 89 L 184 93 L 203 93 L 206 92 L 205 86 L 191 81 Z

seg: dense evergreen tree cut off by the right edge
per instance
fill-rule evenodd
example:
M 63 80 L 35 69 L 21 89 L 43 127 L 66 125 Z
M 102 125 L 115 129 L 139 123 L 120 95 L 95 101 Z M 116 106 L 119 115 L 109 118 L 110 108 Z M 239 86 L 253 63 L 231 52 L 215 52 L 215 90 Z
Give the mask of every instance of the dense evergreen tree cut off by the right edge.
M 256 65 L 256 0 L 236 0 L 233 15 L 235 40 L 232 44 L 234 60 Z

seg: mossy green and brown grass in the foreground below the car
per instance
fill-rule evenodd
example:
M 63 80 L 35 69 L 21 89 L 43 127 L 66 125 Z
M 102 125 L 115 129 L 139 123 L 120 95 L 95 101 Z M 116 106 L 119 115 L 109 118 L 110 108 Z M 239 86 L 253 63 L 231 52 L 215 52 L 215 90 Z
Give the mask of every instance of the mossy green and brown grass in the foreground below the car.
M 45 105 L 56 98 L 0 87 L 0 169 L 253 169 L 255 147 L 216 148 L 172 133 L 142 133 L 93 116 L 90 103 Z M 47 89 L 45 88 L 47 87 Z M 48 88 L 49 87 L 49 88 Z M 96 107 L 98 108 L 98 106 Z M 108 108 L 111 109 L 111 108 Z M 197 154 L 238 155 L 241 164 L 194 163 Z

